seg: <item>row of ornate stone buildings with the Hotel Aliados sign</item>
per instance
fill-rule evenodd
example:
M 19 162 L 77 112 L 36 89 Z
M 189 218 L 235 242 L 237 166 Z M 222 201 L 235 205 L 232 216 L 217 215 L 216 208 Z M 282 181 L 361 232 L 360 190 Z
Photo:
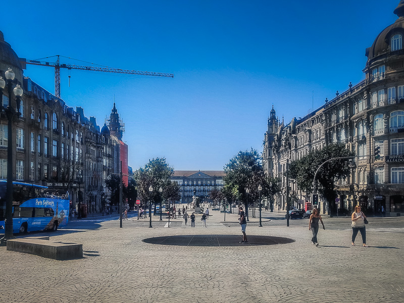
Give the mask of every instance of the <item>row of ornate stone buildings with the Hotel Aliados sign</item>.
M 346 91 L 326 98 L 310 115 L 288 124 L 282 121 L 276 129 L 270 129 L 268 122 L 263 163 L 268 175 L 281 178 L 283 191 L 277 203 L 283 209 L 287 163 L 326 144 L 342 142 L 358 157 L 350 175 L 337 182 L 340 208 L 351 212 L 361 205 L 369 214 L 404 216 L 404 1 L 394 14 L 398 19 L 366 49 L 365 80 L 349 83 Z M 375 158 L 376 148 L 380 158 Z M 303 207 L 310 201 L 310 193 L 293 182 L 289 187 L 292 206 Z M 326 213 L 327 209 L 327 201 L 320 196 L 320 210 Z

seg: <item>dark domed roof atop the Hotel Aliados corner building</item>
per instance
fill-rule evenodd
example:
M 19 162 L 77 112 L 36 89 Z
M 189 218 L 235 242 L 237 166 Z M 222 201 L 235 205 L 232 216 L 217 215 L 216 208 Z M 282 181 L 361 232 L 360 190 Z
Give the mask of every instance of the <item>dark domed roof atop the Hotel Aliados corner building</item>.
M 375 39 L 372 46 L 366 49 L 366 56 L 368 57 L 368 63 L 370 61 L 382 54 L 389 52 L 390 39 L 391 36 L 397 33 L 401 33 L 404 35 L 404 0 L 401 0 L 396 9 L 394 10 L 394 14 L 398 16 L 398 19 L 386 27 Z

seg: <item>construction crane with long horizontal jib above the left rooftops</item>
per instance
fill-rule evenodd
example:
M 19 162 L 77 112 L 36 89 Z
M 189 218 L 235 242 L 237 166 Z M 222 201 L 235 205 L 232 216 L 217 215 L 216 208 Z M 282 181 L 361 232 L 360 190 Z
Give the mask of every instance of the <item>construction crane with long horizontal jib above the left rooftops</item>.
M 80 66 L 80 65 L 72 65 L 72 64 L 60 64 L 60 62 L 59 62 L 60 55 L 56 55 L 56 56 L 52 56 L 52 57 L 58 57 L 56 62 L 28 60 L 25 58 L 20 58 L 20 62 L 23 67 L 25 67 L 26 64 L 54 67 L 55 68 L 55 95 L 58 98 L 60 98 L 60 69 L 61 68 L 67 68 L 68 70 L 78 69 L 78 70 L 85 70 L 85 71 L 174 78 L 174 74 L 168 74 L 168 73 L 142 72 L 142 71 L 124 70 L 124 69 L 110 68 L 110 67 L 95 67 L 95 66 Z M 50 58 L 50 57 L 47 57 L 47 58 Z M 70 78 L 70 75 L 69 75 L 69 78 Z

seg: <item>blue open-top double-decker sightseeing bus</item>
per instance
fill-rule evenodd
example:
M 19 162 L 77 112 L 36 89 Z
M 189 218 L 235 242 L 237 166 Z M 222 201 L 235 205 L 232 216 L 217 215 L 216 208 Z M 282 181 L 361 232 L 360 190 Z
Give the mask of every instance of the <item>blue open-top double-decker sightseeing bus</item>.
M 0 234 L 4 234 L 7 182 L 0 180 Z M 58 230 L 69 221 L 70 196 L 46 186 L 13 182 L 13 233 Z

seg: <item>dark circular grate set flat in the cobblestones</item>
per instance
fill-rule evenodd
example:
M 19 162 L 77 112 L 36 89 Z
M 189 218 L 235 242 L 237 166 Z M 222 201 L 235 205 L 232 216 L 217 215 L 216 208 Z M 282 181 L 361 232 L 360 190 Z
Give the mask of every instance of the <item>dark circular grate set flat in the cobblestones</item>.
M 247 239 L 247 243 L 241 243 L 242 235 L 184 235 L 154 237 L 142 241 L 150 244 L 178 246 L 257 246 L 294 242 L 293 239 L 271 236 L 247 235 Z

